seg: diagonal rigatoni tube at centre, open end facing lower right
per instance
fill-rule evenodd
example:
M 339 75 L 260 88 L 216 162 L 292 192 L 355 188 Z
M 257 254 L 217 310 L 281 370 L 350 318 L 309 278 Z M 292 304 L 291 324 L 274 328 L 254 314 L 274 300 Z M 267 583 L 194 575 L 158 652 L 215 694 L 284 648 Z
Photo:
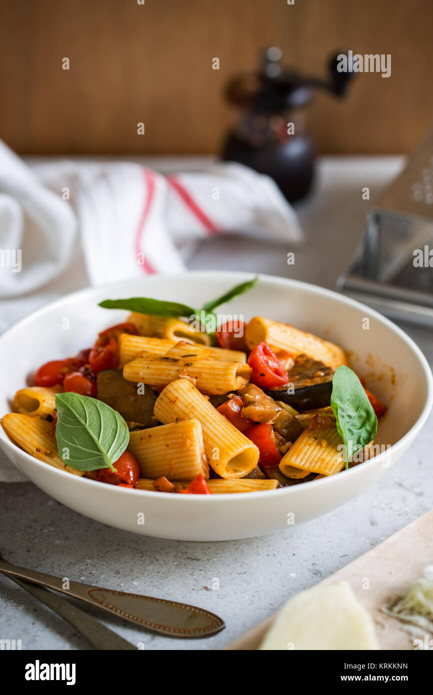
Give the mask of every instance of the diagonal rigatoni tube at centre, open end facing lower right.
M 259 462 L 256 445 L 218 413 L 187 379 L 177 379 L 161 391 L 154 413 L 161 423 L 199 420 L 209 464 L 223 478 L 243 477 Z

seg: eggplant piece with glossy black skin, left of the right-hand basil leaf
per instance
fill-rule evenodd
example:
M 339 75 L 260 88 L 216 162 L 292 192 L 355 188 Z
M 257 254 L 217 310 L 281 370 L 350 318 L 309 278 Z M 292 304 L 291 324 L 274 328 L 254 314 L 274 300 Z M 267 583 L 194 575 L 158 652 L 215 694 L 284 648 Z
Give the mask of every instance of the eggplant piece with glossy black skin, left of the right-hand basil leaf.
M 268 389 L 265 393 L 296 410 L 323 408 L 331 403 L 333 376 L 334 370 L 331 367 L 300 354 L 288 373 L 289 383 L 284 388 Z M 293 393 L 292 389 L 288 389 L 291 384 Z

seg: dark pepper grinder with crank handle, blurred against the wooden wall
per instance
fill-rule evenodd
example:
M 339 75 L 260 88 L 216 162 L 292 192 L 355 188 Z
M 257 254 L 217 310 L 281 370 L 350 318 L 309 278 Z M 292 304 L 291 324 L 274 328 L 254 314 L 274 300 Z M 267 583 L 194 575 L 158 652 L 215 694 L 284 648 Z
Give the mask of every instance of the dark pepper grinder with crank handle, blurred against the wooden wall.
M 303 198 L 313 183 L 316 148 L 307 129 L 306 107 L 314 90 L 344 97 L 353 72 L 339 72 L 338 56 L 329 60 L 328 79 L 284 68 L 281 50 L 268 47 L 258 72 L 240 74 L 226 88 L 238 118 L 223 147 L 222 159 L 268 174 L 289 202 Z M 346 56 L 348 54 L 345 54 Z

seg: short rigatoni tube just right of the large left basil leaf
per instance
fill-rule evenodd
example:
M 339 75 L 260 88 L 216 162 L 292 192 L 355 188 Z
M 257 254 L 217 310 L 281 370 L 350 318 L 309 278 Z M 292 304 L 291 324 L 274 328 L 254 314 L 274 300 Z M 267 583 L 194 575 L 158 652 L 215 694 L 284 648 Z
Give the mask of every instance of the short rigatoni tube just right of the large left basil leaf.
M 165 475 L 169 480 L 193 480 L 199 473 L 209 477 L 198 420 L 130 432 L 128 451 L 136 457 L 143 478 Z

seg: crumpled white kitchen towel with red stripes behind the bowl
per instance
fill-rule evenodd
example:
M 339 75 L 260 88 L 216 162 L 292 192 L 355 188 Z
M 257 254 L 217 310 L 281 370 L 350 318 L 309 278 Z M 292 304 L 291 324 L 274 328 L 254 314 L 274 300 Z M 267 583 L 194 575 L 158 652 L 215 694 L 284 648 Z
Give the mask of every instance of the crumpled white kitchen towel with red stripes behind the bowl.
M 74 240 L 97 285 L 183 270 L 185 247 L 224 232 L 302 239 L 274 181 L 240 164 L 170 177 L 136 163 L 59 161 L 30 170 L 0 143 L 0 298 L 63 273 Z

